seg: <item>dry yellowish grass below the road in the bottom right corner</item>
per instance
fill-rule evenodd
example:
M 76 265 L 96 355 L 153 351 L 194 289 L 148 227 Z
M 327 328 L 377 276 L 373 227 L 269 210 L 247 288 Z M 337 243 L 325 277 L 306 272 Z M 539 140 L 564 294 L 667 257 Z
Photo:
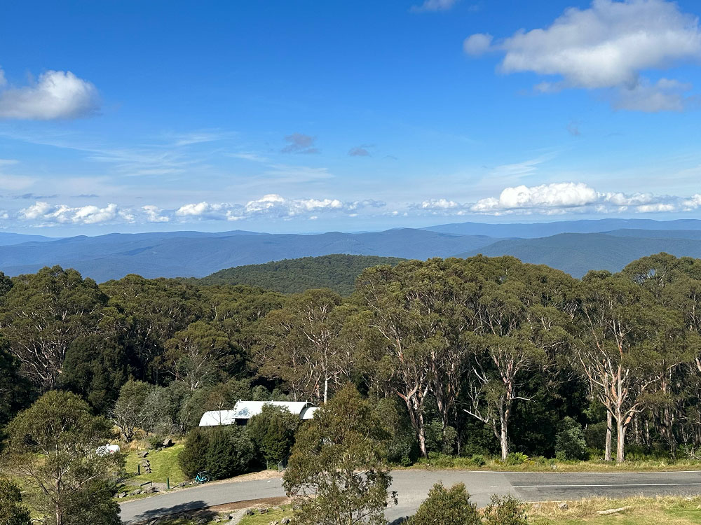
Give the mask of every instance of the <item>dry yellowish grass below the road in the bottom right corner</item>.
M 529 522 L 533 525 L 690 525 L 701 524 L 701 498 L 665 496 L 659 498 L 592 498 L 568 503 L 560 510 L 557 503 L 533 505 Z M 630 507 L 616 514 L 601 510 Z

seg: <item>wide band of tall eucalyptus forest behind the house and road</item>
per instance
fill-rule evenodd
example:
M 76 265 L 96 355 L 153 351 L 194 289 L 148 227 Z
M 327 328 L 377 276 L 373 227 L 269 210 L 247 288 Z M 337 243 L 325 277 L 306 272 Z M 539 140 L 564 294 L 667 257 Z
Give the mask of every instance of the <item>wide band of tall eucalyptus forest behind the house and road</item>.
M 674 457 L 701 445 L 700 294 L 701 260 L 666 254 L 581 281 L 511 257 L 402 261 L 346 298 L 44 268 L 1 280 L 0 424 L 60 388 L 124 439 L 184 435 L 206 409 L 351 381 L 393 461 L 554 456 L 562 421 L 586 441 L 566 454 Z

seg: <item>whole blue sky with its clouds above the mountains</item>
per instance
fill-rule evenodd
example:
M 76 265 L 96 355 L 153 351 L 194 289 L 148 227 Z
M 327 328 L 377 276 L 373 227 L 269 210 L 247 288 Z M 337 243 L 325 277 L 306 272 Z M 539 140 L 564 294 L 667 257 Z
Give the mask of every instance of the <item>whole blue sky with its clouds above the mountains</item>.
M 691 1 L 15 2 L 0 226 L 697 218 Z

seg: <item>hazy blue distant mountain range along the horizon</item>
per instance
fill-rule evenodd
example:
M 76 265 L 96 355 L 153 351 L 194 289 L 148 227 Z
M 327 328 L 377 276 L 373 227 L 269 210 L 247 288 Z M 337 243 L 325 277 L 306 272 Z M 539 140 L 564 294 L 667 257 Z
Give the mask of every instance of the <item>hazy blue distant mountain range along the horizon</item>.
M 43 266 L 78 269 L 97 281 L 130 273 L 147 278 L 204 277 L 221 269 L 329 254 L 408 259 L 515 255 L 583 276 L 618 271 L 666 251 L 701 258 L 701 221 L 604 219 L 535 224 L 461 223 L 383 232 L 317 235 L 245 232 L 153 232 L 51 239 L 0 233 L 0 269 L 8 275 Z M 350 264 L 350 263 L 348 263 Z

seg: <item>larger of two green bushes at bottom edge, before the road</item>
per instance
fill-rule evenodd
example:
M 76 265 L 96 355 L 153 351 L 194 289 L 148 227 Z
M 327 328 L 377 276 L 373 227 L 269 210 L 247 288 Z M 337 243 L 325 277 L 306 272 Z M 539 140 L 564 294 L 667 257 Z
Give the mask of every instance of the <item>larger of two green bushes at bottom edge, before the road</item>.
M 409 519 L 409 525 L 479 525 L 479 512 L 470 503 L 470 494 L 462 483 L 446 489 L 437 483 L 421 503 L 416 514 Z

